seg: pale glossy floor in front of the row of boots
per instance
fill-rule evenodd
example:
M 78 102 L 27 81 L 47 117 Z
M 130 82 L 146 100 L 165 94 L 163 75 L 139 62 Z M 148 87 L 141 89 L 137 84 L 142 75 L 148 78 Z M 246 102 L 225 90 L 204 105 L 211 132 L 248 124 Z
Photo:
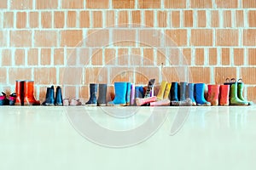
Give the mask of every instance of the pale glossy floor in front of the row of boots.
M 255 169 L 256 107 L 0 107 L 0 169 Z

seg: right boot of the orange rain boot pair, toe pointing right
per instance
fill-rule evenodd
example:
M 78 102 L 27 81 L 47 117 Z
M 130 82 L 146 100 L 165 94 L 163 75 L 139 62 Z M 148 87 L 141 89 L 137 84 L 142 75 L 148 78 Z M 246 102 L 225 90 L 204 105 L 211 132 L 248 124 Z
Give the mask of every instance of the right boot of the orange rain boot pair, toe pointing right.
M 34 98 L 34 81 L 24 82 L 24 105 L 40 105 L 40 101 Z

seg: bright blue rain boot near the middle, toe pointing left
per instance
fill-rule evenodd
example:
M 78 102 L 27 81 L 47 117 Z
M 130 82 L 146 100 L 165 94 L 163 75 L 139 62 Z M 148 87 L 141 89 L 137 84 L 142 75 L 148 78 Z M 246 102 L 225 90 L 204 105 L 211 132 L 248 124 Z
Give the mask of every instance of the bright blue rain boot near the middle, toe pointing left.
M 126 105 L 127 82 L 114 82 L 114 99 L 108 105 Z

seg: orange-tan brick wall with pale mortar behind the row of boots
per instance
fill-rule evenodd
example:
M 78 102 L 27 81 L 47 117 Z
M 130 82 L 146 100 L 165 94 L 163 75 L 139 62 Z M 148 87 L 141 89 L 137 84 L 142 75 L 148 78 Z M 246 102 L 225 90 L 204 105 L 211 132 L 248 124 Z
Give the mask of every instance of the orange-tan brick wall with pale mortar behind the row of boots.
M 16 79 L 34 80 L 44 100 L 51 84 L 87 99 L 90 82 L 241 77 L 256 100 L 255 0 L 1 0 L 0 8 L 0 87 L 9 93 Z

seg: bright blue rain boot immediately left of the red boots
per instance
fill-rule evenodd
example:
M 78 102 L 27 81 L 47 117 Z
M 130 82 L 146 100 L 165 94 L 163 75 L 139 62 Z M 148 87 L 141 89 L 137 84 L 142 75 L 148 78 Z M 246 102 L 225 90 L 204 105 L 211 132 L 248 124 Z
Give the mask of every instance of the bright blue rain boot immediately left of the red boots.
M 195 101 L 197 105 L 211 105 L 210 102 L 207 102 L 205 99 L 205 83 L 196 83 L 195 84 Z

